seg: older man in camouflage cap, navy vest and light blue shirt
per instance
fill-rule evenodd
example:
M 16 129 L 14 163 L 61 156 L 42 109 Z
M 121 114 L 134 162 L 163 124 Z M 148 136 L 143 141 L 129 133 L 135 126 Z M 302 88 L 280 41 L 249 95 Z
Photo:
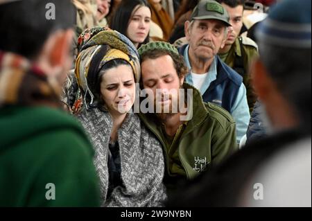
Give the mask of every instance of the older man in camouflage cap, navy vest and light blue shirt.
M 220 105 L 236 121 L 236 141 L 245 134 L 250 120 L 243 79 L 217 53 L 225 46 L 229 15 L 220 3 L 202 0 L 184 25 L 189 44 L 180 48 L 191 73 L 186 82 L 196 87 L 205 102 Z

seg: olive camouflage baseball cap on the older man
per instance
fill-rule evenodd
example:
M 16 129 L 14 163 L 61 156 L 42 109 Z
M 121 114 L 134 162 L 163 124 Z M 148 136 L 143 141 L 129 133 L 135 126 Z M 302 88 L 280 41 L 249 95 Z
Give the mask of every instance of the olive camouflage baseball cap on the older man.
M 192 12 L 191 20 L 193 19 L 216 19 L 223 21 L 226 26 L 231 26 L 227 10 L 214 0 L 201 0 Z

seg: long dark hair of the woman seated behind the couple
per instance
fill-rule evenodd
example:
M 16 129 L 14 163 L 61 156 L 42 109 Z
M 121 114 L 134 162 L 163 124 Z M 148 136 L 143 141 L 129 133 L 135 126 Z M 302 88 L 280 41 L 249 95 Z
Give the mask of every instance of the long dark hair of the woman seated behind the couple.
M 123 0 L 120 5 L 112 15 L 112 19 L 110 20 L 110 28 L 113 30 L 119 31 L 119 33 L 127 36 L 127 28 L 130 23 L 131 15 L 135 7 L 137 6 L 146 6 L 150 9 L 150 5 L 146 0 Z M 152 12 L 152 10 L 150 10 Z M 128 36 L 127 36 L 128 37 Z M 143 43 L 147 44 L 150 41 L 149 35 L 146 37 Z M 141 46 L 139 44 L 139 46 Z M 138 48 L 139 48 L 138 46 Z

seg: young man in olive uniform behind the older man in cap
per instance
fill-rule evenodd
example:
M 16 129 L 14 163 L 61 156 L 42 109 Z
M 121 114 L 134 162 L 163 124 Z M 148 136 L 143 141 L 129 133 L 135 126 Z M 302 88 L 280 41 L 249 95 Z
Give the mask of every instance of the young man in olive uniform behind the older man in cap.
M 243 0 L 217 0 L 229 13 L 229 23 L 232 25 L 232 33 L 227 37 L 224 48 L 220 48 L 219 57 L 229 67 L 232 67 L 243 77 L 243 83 L 247 90 L 248 106 L 250 111 L 254 106 L 256 96 L 251 85 L 249 67 L 252 60 L 257 57 L 258 46 L 248 37 L 241 37 L 239 33 L 243 26 Z

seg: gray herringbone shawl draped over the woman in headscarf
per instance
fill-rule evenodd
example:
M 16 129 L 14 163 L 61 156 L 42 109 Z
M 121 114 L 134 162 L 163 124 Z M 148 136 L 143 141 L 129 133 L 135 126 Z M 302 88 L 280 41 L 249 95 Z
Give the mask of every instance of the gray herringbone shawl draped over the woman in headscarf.
M 98 108 L 83 110 L 78 119 L 89 134 L 94 150 L 94 163 L 100 178 L 102 206 L 163 206 L 166 200 L 164 155 L 162 146 L 146 130 L 137 114 L 127 114 L 118 131 L 121 156 L 121 180 L 106 199 L 108 188 L 108 145 L 112 118 Z

